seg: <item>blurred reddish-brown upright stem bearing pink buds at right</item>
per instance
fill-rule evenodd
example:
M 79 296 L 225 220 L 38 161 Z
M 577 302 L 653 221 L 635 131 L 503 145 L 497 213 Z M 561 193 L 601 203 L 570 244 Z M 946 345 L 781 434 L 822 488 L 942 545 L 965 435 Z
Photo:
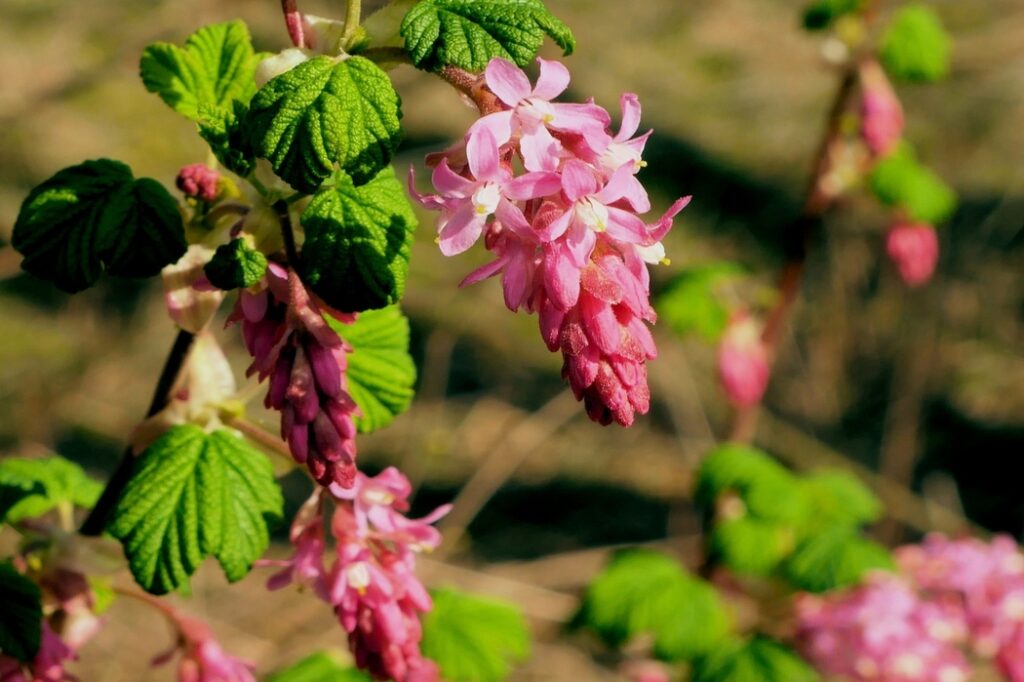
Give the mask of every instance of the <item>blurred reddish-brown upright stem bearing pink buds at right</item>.
M 783 250 L 786 262 L 778 282 L 778 300 L 768 313 L 761 341 L 768 355 L 769 367 L 774 366 L 778 355 L 782 333 L 793 314 L 793 308 L 800 296 L 807 265 L 807 247 L 817 235 L 821 218 L 838 199 L 822 181 L 831 170 L 831 152 L 842 137 L 843 115 L 850 105 L 857 84 L 857 66 L 851 63 L 843 73 L 843 79 L 836 91 L 821 144 L 814 161 L 814 172 L 807 187 L 801 215 L 783 236 Z M 760 404 L 736 410 L 729 430 L 729 440 L 750 442 L 757 432 Z

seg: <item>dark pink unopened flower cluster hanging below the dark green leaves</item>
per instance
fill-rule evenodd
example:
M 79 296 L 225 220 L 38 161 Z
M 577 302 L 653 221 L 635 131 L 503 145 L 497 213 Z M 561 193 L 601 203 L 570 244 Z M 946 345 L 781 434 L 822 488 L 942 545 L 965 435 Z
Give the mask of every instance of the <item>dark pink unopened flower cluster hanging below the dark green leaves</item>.
M 230 321 L 242 322 L 253 356 L 248 374 L 269 377 L 267 408 L 281 412 L 281 435 L 296 462 L 323 485 L 355 478 L 356 406 L 346 391 L 349 347 L 293 270 L 271 263 L 256 292 L 243 290 Z M 351 323 L 353 315 L 329 311 Z

